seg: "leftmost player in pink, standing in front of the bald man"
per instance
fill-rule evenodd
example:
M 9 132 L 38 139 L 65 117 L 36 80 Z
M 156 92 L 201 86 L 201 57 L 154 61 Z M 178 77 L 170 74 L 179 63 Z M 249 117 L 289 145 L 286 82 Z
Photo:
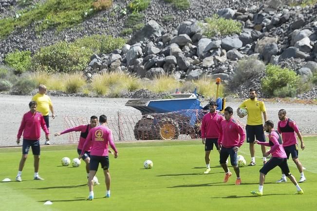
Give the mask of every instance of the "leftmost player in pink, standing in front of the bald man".
M 49 131 L 46 127 L 43 116 L 37 112 L 37 102 L 31 101 L 29 103 L 30 111 L 23 115 L 19 132 L 17 135 L 17 144 L 20 143 L 20 138 L 23 132 L 23 144 L 22 144 L 22 157 L 19 163 L 19 172 L 16 177 L 16 181 L 21 182 L 22 170 L 28 157 L 30 147 L 32 148 L 32 153 L 34 155 L 34 179 L 43 180 L 38 175 L 38 166 L 39 166 L 39 137 L 41 134 L 40 128 L 43 129 L 46 135 L 46 140 L 49 140 Z

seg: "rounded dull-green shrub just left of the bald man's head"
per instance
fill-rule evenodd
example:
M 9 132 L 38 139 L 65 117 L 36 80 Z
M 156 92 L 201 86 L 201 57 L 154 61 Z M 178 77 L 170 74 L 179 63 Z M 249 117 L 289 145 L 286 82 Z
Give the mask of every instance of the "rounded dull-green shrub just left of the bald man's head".
M 12 94 L 28 95 L 37 88 L 37 83 L 30 77 L 20 77 L 12 88 Z

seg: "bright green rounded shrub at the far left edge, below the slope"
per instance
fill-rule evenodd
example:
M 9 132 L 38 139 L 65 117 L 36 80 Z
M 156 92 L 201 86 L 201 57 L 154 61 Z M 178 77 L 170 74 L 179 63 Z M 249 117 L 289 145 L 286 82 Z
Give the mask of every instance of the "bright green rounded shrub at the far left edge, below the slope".
M 15 69 L 15 74 L 21 74 L 31 67 L 31 51 L 19 51 L 9 53 L 5 56 L 4 62 Z

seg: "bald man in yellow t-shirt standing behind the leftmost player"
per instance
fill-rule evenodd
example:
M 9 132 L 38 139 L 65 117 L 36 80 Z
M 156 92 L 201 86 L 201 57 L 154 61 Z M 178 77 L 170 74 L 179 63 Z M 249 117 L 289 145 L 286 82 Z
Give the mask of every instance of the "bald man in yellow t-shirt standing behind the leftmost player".
M 37 112 L 41 113 L 44 117 L 46 127 L 49 128 L 49 112 L 52 112 L 52 118 L 55 118 L 54 110 L 53 110 L 53 104 L 51 101 L 51 98 L 46 95 L 46 86 L 43 84 L 40 84 L 38 86 L 38 93 L 32 97 L 32 101 L 37 102 Z M 45 141 L 46 145 L 50 145 L 51 143 L 49 140 Z

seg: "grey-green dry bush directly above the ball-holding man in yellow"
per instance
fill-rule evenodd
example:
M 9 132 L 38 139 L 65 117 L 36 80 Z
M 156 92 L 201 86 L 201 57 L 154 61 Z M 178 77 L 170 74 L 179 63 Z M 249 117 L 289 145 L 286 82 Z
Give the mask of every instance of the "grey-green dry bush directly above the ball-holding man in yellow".
M 264 70 L 264 63 L 258 59 L 248 58 L 239 60 L 231 84 L 235 87 L 240 86 L 245 81 L 250 80 L 250 78 L 260 77 Z

